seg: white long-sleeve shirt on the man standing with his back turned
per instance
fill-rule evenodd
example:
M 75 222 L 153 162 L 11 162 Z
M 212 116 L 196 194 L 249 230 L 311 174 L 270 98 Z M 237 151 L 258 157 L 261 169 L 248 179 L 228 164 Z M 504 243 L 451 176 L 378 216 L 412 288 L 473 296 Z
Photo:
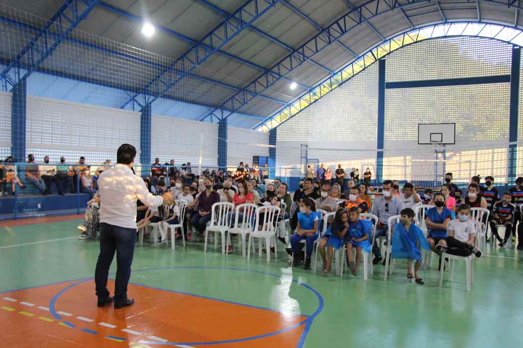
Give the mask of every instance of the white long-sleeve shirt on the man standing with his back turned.
M 143 179 L 133 174 L 123 164 L 109 168 L 98 179 L 98 190 L 103 197 L 100 204 L 100 222 L 110 225 L 136 229 L 136 201 L 155 208 L 163 203 L 163 198 L 153 196 Z

